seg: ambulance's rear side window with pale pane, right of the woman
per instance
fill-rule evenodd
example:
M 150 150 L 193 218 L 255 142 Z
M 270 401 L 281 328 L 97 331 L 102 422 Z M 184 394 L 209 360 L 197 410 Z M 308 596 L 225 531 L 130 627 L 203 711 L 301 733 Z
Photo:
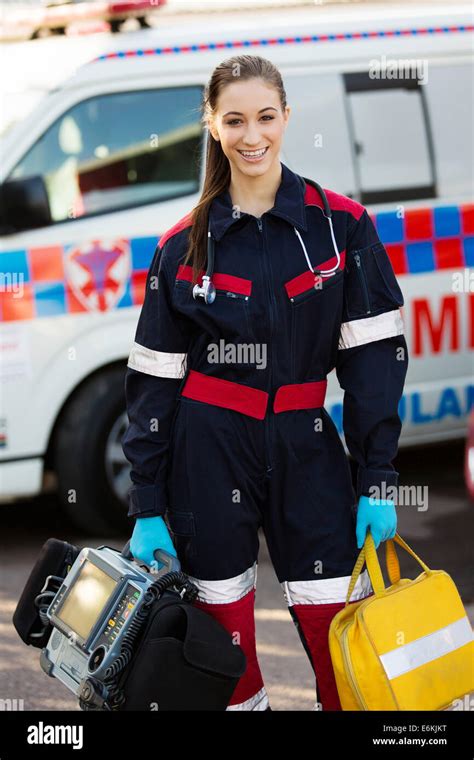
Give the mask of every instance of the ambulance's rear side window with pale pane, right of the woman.
M 437 195 L 422 73 L 409 72 L 403 78 L 371 77 L 368 72 L 343 76 L 358 200 L 364 205 Z

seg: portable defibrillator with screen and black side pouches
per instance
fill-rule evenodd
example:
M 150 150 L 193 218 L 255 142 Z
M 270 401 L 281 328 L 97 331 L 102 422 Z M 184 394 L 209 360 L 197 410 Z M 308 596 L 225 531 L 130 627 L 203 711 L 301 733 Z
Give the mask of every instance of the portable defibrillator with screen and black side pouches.
M 16 630 L 42 647 L 42 669 L 81 709 L 225 709 L 245 671 L 243 651 L 193 606 L 198 589 L 176 557 L 156 550 L 165 566 L 150 571 L 129 546 L 79 551 L 49 539 L 15 610 Z

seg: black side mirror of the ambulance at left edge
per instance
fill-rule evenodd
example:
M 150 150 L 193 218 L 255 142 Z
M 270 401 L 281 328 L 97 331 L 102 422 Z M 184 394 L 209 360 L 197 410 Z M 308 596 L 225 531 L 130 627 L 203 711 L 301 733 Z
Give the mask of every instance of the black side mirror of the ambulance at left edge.
M 8 180 L 0 185 L 0 234 L 10 235 L 51 223 L 43 177 Z

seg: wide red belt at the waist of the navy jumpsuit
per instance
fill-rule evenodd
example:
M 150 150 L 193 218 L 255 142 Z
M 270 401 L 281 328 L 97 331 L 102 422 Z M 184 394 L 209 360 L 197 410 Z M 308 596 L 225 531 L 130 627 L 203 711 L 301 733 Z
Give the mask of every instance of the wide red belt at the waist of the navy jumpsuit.
M 323 406 L 326 387 L 327 380 L 281 385 L 275 393 L 273 411 L 278 414 L 292 409 L 312 409 Z M 265 417 L 269 397 L 266 391 L 211 377 L 193 369 L 189 370 L 181 395 L 196 401 L 204 401 L 206 404 L 233 409 L 258 420 L 263 420 Z

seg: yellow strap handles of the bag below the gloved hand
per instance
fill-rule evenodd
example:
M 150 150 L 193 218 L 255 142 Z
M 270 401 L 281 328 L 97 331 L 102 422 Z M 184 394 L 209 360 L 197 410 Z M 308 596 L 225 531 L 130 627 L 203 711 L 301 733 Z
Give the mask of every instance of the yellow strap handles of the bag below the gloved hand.
M 390 578 L 390 582 L 392 584 L 398 583 L 400 580 L 400 563 L 398 561 L 397 551 L 395 548 L 395 542 L 399 544 L 405 551 L 408 552 L 408 554 L 411 554 L 413 559 L 416 559 L 416 561 L 421 565 L 425 573 L 430 574 L 431 570 L 426 565 L 420 557 L 415 554 L 413 549 L 411 549 L 408 544 L 403 540 L 403 538 L 398 534 L 395 533 L 395 536 L 393 539 L 388 539 L 385 544 L 385 561 L 387 565 L 387 571 Z M 349 600 L 352 596 L 352 592 L 354 591 L 355 584 L 357 583 L 357 578 L 359 577 L 362 568 L 364 566 L 364 562 L 367 564 L 367 570 L 369 573 L 369 577 L 372 583 L 372 587 L 374 589 L 376 596 L 382 596 L 382 594 L 385 593 L 385 584 L 383 580 L 382 570 L 380 569 L 379 560 L 377 557 L 377 550 L 375 548 L 375 543 L 373 536 L 371 532 L 369 531 L 365 537 L 364 546 L 360 550 L 359 556 L 357 557 L 356 563 L 354 565 L 354 569 L 352 571 L 351 580 L 349 583 L 349 588 L 347 591 L 346 596 L 346 606 L 349 604 Z

